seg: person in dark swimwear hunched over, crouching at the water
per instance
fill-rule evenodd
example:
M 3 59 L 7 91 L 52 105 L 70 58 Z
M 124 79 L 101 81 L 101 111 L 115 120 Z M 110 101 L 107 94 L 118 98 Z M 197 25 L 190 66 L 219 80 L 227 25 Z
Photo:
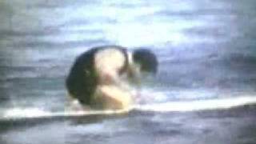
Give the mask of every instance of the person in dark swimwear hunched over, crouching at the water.
M 76 58 L 66 78 L 66 88 L 70 98 L 83 109 L 124 110 L 136 96 L 130 92 L 127 79 L 139 82 L 139 74 L 155 74 L 157 68 L 157 58 L 150 50 L 93 47 Z

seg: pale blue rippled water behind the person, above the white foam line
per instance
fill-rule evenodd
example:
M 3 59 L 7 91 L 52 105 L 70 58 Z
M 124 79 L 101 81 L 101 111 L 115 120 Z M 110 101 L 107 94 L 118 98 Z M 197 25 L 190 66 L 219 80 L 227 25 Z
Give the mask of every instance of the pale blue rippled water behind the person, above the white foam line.
M 1 108 L 62 109 L 74 58 L 102 45 L 154 50 L 165 101 L 254 93 L 255 14 L 254 0 L 2 0 Z

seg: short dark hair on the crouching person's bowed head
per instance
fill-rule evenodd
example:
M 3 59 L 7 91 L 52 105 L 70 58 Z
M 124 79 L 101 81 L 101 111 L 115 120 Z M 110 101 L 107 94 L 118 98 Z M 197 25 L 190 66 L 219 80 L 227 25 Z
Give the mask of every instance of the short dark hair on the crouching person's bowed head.
M 134 50 L 133 59 L 141 66 L 142 71 L 157 73 L 158 59 L 150 50 L 145 48 Z

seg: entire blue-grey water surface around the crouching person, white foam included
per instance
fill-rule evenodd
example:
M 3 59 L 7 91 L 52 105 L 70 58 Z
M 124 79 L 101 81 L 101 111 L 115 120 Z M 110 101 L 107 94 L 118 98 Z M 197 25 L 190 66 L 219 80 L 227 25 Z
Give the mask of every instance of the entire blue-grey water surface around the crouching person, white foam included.
M 253 143 L 254 108 L 207 110 L 255 102 L 255 15 L 254 0 L 2 0 L 0 118 L 32 118 L 1 120 L 0 143 Z M 157 54 L 150 100 L 62 117 L 74 58 L 102 45 Z

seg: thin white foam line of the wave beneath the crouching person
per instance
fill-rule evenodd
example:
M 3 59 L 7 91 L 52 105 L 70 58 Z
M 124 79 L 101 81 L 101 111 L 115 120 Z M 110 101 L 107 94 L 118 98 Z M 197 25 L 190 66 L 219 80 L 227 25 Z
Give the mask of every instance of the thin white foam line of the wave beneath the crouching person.
M 1 120 L 10 119 L 26 119 L 26 118 L 52 118 L 52 117 L 79 117 L 86 115 L 103 115 L 103 114 L 123 114 L 130 110 L 138 110 L 142 112 L 186 112 L 198 110 L 224 110 L 236 106 L 245 106 L 256 104 L 256 97 L 238 97 L 238 98 L 216 98 L 207 100 L 194 100 L 187 102 L 164 102 L 144 105 L 130 106 L 125 110 L 90 110 L 90 111 L 74 111 L 63 110 L 59 112 L 51 112 L 40 110 L 38 108 L 12 108 L 5 110 Z

